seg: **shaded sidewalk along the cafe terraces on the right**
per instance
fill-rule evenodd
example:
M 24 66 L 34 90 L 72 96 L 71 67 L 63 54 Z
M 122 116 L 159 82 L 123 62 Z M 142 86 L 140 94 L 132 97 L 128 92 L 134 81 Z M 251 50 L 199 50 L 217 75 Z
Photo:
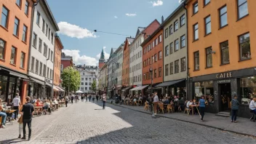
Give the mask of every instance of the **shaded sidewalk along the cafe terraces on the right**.
M 111 100 L 107 100 L 111 103 Z M 114 103 L 114 100 L 113 100 Z M 133 111 L 139 111 L 143 113 L 152 114 L 150 111 L 145 111 L 144 106 L 131 106 L 131 105 L 117 105 L 124 108 L 129 108 Z M 249 121 L 249 119 L 237 117 L 238 123 L 231 123 L 231 118 L 225 118 L 215 116 L 215 113 L 205 113 L 204 121 L 200 121 L 199 115 L 188 115 L 187 113 L 158 113 L 158 116 L 165 117 L 167 119 L 176 119 L 178 121 L 185 121 L 192 124 L 199 124 L 205 127 L 212 127 L 223 131 L 234 132 L 240 135 L 249 135 L 256 137 L 256 123 Z

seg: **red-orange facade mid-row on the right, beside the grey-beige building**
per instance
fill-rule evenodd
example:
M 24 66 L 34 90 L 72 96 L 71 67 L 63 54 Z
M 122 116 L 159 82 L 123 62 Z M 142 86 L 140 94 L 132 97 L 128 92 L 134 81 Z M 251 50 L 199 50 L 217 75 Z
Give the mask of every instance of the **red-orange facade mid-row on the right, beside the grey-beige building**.
M 151 70 L 153 75 L 152 86 L 163 82 L 163 30 L 157 28 L 148 39 L 141 44 L 143 47 L 143 85 L 151 84 Z

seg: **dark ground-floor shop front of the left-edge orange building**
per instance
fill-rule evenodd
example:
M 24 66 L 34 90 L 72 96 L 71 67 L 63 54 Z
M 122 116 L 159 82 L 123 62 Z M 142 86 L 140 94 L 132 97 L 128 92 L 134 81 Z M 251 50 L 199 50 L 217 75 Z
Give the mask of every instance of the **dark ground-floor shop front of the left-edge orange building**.
M 16 94 L 19 95 L 21 102 L 24 103 L 27 84 L 28 77 L 25 74 L 0 68 L 0 98 L 7 102 L 7 105 L 12 103 Z

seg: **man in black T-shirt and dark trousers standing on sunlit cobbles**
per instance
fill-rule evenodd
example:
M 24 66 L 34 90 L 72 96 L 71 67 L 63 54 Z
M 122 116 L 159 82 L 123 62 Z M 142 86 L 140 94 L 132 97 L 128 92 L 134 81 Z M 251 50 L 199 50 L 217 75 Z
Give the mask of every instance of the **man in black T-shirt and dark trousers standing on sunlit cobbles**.
M 29 103 L 31 97 L 25 97 L 25 105 L 23 105 L 22 116 L 23 116 L 23 137 L 22 140 L 25 140 L 25 126 L 28 124 L 28 140 L 31 140 L 31 122 L 33 117 L 34 108 L 31 103 Z

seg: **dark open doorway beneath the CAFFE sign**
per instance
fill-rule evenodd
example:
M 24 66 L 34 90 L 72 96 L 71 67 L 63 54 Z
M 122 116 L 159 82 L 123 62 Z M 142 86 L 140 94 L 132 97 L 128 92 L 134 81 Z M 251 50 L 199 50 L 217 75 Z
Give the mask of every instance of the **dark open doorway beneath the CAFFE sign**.
M 219 84 L 220 87 L 220 111 L 231 111 L 231 83 Z

